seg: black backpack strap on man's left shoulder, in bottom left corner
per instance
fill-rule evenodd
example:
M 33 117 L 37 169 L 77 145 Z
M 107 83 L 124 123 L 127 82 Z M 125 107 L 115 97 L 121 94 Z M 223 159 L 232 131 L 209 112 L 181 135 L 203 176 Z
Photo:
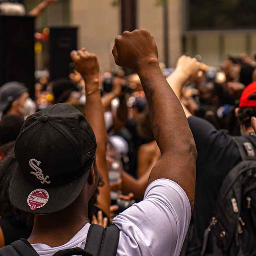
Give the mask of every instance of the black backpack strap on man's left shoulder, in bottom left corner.
M 26 242 L 25 242 L 26 241 Z M 26 239 L 13 242 L 0 250 L 0 256 L 39 256 Z

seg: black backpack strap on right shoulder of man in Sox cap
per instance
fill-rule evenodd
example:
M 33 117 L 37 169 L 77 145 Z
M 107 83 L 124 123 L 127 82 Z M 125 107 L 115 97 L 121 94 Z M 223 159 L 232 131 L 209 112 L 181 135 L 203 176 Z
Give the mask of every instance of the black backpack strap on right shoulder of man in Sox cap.
M 111 225 L 104 229 L 102 226 L 92 224 L 88 231 L 85 251 L 92 256 L 116 256 L 119 242 L 119 229 Z

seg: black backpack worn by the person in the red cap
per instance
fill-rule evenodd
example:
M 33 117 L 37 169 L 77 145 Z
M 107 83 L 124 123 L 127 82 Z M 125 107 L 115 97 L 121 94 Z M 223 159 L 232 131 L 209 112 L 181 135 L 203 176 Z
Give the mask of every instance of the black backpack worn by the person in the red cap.
M 256 255 L 256 157 L 252 139 L 255 135 L 234 137 L 242 161 L 222 184 L 216 214 L 204 233 L 201 256 Z

